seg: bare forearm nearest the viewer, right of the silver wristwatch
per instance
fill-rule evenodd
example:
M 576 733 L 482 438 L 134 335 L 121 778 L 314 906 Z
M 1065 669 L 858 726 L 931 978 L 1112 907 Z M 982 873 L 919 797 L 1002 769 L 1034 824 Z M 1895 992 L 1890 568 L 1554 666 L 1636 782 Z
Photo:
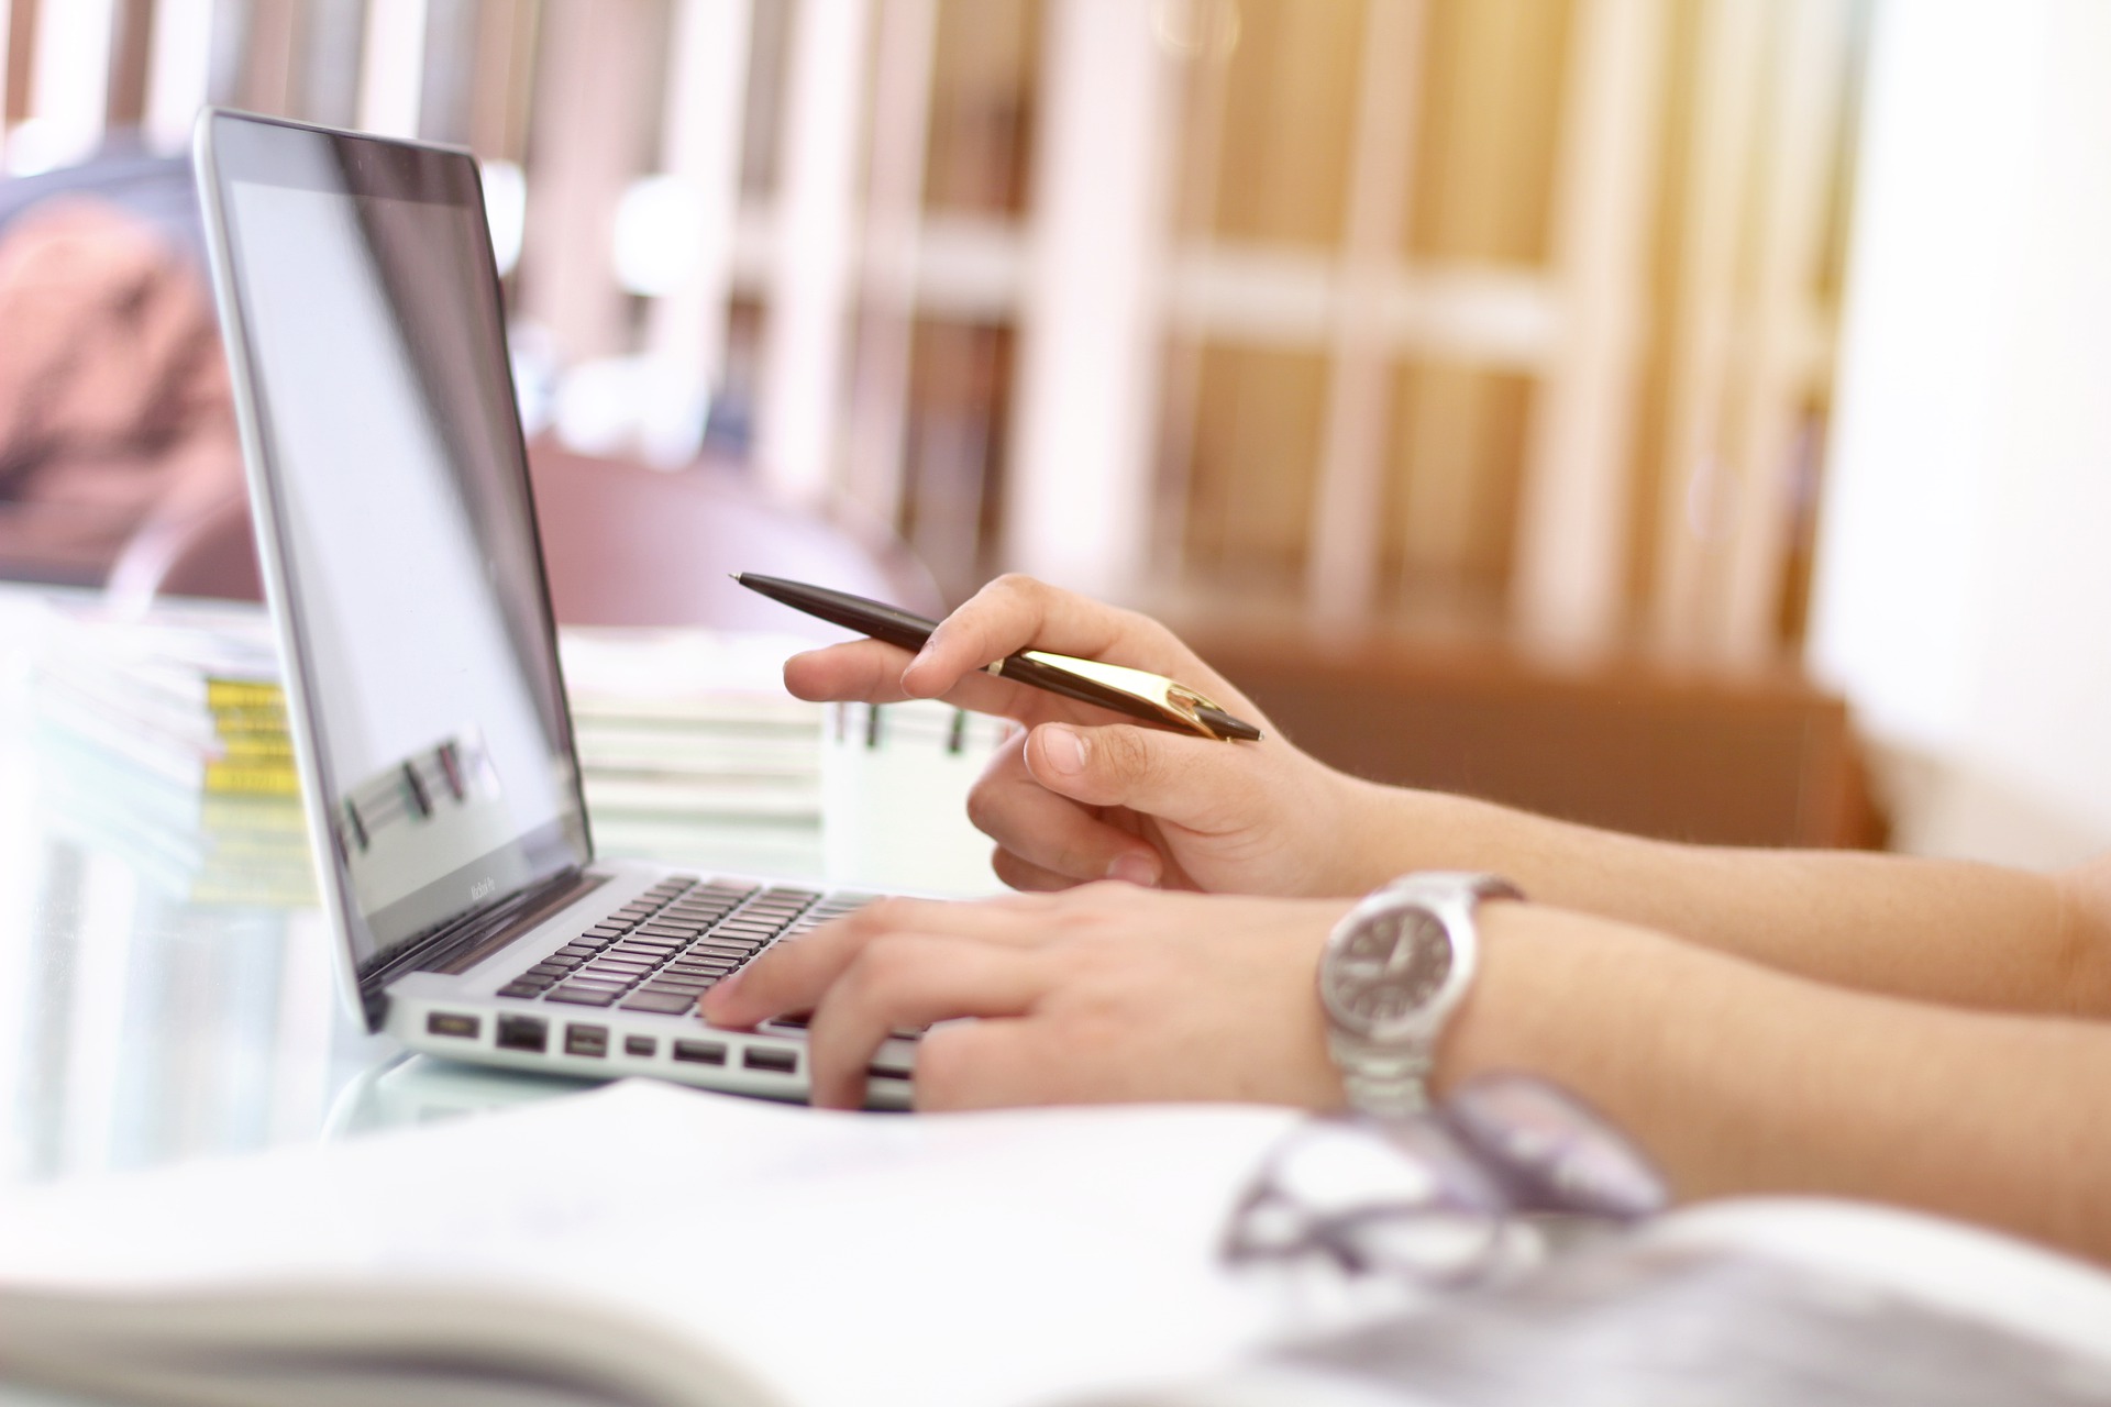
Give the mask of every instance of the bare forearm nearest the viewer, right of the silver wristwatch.
M 1444 1082 L 1545 1074 L 1682 1196 L 1877 1198 L 2111 1259 L 2111 1029 L 1841 991 L 1539 907 L 1482 913 Z

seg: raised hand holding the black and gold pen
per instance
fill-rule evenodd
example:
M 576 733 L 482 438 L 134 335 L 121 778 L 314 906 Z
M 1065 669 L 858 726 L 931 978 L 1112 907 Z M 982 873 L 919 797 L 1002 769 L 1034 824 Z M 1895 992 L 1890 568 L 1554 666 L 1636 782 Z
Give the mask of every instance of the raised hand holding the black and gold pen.
M 1260 743 L 1218 743 L 1115 721 L 1121 715 L 982 673 L 1049 650 L 1178 679 L 1254 721 Z M 1250 894 L 1351 894 L 1397 865 L 1364 861 L 1381 789 L 1298 751 L 1239 690 L 1163 624 L 1026 576 L 1003 576 L 956 610 L 914 660 L 853 641 L 794 656 L 800 698 L 946 698 L 1026 724 L 990 759 L 969 818 L 996 842 L 996 875 L 1022 890 L 1091 880 Z

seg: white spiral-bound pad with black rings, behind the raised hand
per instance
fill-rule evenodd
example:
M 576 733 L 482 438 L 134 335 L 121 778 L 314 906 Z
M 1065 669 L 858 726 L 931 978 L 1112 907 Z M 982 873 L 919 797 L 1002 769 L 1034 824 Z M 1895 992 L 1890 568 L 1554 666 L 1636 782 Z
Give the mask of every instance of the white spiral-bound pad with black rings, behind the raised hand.
M 821 865 L 838 888 L 971 897 L 1005 886 L 967 791 L 1009 734 L 1005 719 L 933 700 L 828 707 Z

